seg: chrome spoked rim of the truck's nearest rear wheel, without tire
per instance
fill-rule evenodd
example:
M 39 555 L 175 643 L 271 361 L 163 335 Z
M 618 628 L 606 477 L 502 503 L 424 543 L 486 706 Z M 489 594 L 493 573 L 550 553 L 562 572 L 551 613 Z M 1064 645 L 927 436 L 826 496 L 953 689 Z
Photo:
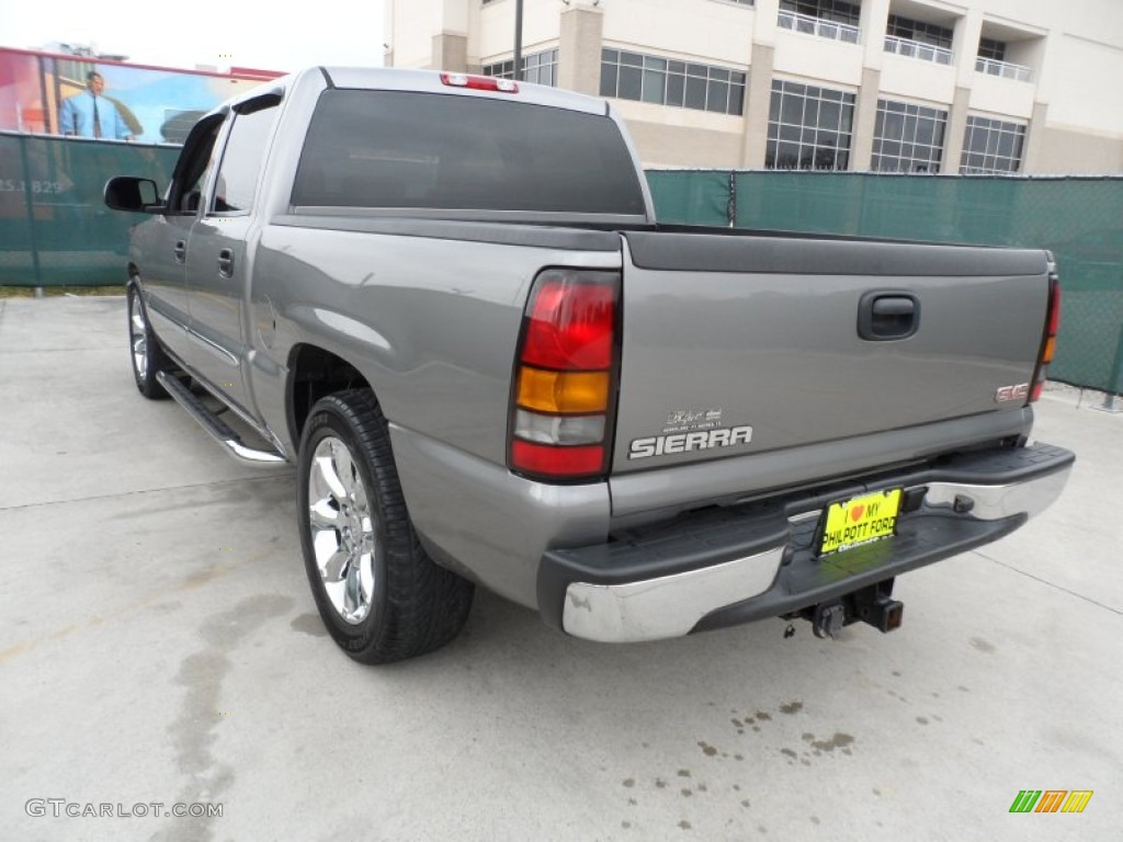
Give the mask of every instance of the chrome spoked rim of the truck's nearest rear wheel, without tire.
M 328 602 L 357 625 L 371 613 L 375 585 L 374 518 L 358 464 L 334 436 L 320 440 L 308 475 L 312 553 Z

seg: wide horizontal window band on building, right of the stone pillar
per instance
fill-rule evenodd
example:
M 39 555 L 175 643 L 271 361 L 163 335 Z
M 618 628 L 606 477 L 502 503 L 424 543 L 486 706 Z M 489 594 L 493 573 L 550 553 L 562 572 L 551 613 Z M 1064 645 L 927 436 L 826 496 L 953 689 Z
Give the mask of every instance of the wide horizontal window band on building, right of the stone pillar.
M 722 115 L 745 109 L 741 71 L 658 56 L 601 51 L 601 95 Z

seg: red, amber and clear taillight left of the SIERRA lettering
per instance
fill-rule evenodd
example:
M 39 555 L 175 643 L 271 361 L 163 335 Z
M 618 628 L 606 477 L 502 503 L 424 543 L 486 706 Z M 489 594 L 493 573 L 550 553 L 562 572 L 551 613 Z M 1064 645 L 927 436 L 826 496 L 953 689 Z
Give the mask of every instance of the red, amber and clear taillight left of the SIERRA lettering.
M 546 269 L 522 320 L 511 393 L 511 469 L 548 482 L 601 479 L 615 404 L 620 275 Z

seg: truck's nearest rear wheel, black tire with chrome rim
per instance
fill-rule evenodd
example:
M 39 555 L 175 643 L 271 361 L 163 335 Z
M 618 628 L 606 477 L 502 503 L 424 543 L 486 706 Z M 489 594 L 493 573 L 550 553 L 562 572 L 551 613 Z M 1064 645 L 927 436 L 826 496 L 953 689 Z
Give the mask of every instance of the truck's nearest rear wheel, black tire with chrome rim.
M 385 418 L 369 390 L 312 406 L 300 442 L 298 518 L 320 617 L 362 663 L 413 658 L 464 626 L 474 586 L 418 541 Z

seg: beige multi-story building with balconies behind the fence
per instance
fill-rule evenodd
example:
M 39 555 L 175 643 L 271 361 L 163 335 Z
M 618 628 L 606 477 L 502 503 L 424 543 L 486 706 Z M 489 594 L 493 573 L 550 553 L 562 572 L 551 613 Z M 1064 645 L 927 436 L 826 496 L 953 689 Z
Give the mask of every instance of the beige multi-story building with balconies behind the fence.
M 385 0 L 387 66 L 512 75 L 515 0 Z M 1123 172 L 1123 0 L 524 0 L 523 79 L 646 166 Z

